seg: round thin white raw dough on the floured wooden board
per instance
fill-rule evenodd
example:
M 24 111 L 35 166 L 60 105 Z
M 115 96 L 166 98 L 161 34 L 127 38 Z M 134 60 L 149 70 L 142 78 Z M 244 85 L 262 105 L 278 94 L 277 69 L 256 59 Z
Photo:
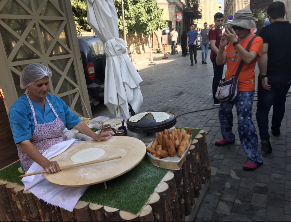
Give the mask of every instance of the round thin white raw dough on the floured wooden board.
M 85 150 L 81 150 L 74 155 L 72 155 L 71 160 L 74 164 L 77 163 L 85 163 L 93 160 L 97 160 L 105 154 L 103 149 L 99 148 L 88 148 Z

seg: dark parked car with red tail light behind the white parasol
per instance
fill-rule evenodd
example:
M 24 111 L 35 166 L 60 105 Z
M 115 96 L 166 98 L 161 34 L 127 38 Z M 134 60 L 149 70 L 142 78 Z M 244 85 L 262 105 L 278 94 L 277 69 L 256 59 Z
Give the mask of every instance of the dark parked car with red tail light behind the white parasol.
M 79 47 L 90 101 L 96 106 L 104 98 L 106 55 L 97 36 L 79 36 Z

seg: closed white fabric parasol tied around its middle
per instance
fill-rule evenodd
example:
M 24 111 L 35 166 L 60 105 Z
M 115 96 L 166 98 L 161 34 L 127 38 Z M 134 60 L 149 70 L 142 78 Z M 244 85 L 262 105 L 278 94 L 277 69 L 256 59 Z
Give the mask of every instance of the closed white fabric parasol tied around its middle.
M 139 83 L 141 77 L 126 55 L 126 46 L 119 38 L 117 13 L 113 1 L 87 0 L 87 19 L 104 43 L 107 56 L 104 80 L 104 104 L 116 117 L 129 118 L 129 106 L 138 113 L 143 104 Z

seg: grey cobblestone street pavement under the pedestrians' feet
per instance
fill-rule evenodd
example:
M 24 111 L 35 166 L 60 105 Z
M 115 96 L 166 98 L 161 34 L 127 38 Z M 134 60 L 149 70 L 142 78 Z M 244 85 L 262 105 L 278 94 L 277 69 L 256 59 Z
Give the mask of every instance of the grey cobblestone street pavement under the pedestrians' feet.
M 145 55 L 136 57 L 137 69 L 143 79 L 140 86 L 144 102 L 140 112 L 170 111 L 180 115 L 214 108 L 212 63 L 209 59 L 207 65 L 201 64 L 200 50 L 197 53 L 198 63 L 193 67 L 190 67 L 189 56 L 182 57 L 181 52 L 175 56 L 167 55 L 169 58 L 165 60 L 162 60 L 161 54 L 154 56 L 154 66 L 148 66 L 149 62 L 142 60 Z M 256 102 L 253 103 L 253 121 L 257 127 L 255 107 Z M 93 113 L 94 117 L 114 117 L 104 105 L 96 106 Z M 235 108 L 233 113 L 236 113 Z M 214 145 L 222 138 L 218 108 L 177 117 L 178 126 L 198 127 L 207 132 L 212 184 L 195 221 L 291 221 L 290 123 L 291 97 L 288 97 L 281 135 L 275 138 L 270 133 L 273 153 L 262 152 L 264 165 L 254 172 L 245 172 L 242 167 L 247 156 L 240 145 L 236 115 L 233 124 L 236 142 L 223 147 Z

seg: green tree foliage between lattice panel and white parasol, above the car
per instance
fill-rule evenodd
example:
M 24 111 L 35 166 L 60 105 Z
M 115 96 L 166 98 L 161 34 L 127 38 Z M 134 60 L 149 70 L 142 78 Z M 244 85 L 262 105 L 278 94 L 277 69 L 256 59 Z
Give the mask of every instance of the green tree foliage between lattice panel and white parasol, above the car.
M 77 32 L 90 31 L 91 27 L 87 20 L 87 3 L 84 0 L 71 0 L 73 15 Z

